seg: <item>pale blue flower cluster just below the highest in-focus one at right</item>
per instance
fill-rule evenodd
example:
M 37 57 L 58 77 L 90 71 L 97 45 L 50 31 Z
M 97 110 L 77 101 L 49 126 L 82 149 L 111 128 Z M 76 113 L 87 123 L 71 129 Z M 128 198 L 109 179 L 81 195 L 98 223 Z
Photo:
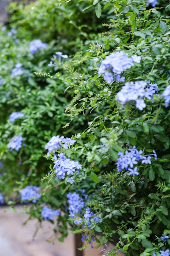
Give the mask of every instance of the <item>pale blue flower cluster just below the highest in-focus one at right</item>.
M 136 107 L 143 110 L 146 104 L 142 98 L 145 97 L 153 102 L 153 94 L 157 91 L 158 86 L 150 83 L 150 81 L 126 82 L 117 93 L 116 100 L 120 101 L 122 105 L 129 101 L 135 101 Z

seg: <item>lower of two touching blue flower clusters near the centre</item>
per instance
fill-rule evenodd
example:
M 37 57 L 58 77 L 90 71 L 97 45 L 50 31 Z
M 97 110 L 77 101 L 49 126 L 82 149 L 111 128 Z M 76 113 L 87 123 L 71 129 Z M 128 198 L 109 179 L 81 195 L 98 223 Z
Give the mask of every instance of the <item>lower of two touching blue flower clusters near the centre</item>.
M 75 169 L 79 170 L 82 169 L 81 164 L 78 162 L 74 162 L 73 160 L 70 160 L 69 158 L 66 158 L 63 153 L 58 154 L 59 158 L 54 161 L 54 168 L 56 173 L 57 179 L 64 179 L 65 174 L 67 172 L 67 175 L 73 175 Z M 67 182 L 73 183 L 73 178 L 68 178 Z

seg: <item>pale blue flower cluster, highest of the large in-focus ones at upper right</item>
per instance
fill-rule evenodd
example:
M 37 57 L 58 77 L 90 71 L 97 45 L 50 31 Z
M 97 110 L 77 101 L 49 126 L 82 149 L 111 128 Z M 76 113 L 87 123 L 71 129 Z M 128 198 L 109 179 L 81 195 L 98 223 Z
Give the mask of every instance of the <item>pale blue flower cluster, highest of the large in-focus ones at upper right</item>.
M 140 56 L 132 55 L 131 57 L 128 57 L 126 52 L 116 51 L 102 60 L 98 73 L 104 73 L 104 80 L 110 84 L 114 80 L 113 73 L 120 75 L 124 70 L 134 66 L 134 62 L 140 63 L 140 59 Z M 120 77 L 119 81 L 121 81 Z

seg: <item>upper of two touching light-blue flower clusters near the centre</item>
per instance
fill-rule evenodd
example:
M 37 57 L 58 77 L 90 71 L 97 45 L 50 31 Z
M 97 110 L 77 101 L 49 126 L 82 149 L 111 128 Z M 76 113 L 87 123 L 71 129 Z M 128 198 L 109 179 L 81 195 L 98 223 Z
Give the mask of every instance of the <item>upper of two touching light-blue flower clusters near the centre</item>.
M 68 137 L 64 138 L 64 136 L 53 136 L 49 142 L 46 144 L 45 149 L 48 149 L 48 156 L 50 152 L 55 153 L 55 150 L 58 148 L 68 149 L 72 144 L 74 144 L 76 140 L 70 139 Z

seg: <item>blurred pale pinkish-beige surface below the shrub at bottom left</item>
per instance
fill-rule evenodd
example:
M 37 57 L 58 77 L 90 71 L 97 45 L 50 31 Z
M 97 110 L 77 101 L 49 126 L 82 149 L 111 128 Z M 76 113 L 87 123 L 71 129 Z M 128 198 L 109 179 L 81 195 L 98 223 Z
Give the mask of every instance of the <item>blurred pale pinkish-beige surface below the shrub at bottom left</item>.
M 16 212 L 7 207 L 0 207 L 0 256 L 75 256 L 74 235 L 69 234 L 63 243 L 55 240 L 53 245 L 46 240 L 52 236 L 54 226 L 44 221 L 43 227 L 33 240 L 37 221 L 31 220 L 23 225 L 28 215 L 21 214 L 22 212 L 22 207 L 18 206 Z M 96 245 L 97 243 L 93 242 L 93 246 Z M 109 247 L 112 249 L 113 245 Z M 102 256 L 101 248 L 91 249 L 89 245 L 83 251 L 83 256 Z

